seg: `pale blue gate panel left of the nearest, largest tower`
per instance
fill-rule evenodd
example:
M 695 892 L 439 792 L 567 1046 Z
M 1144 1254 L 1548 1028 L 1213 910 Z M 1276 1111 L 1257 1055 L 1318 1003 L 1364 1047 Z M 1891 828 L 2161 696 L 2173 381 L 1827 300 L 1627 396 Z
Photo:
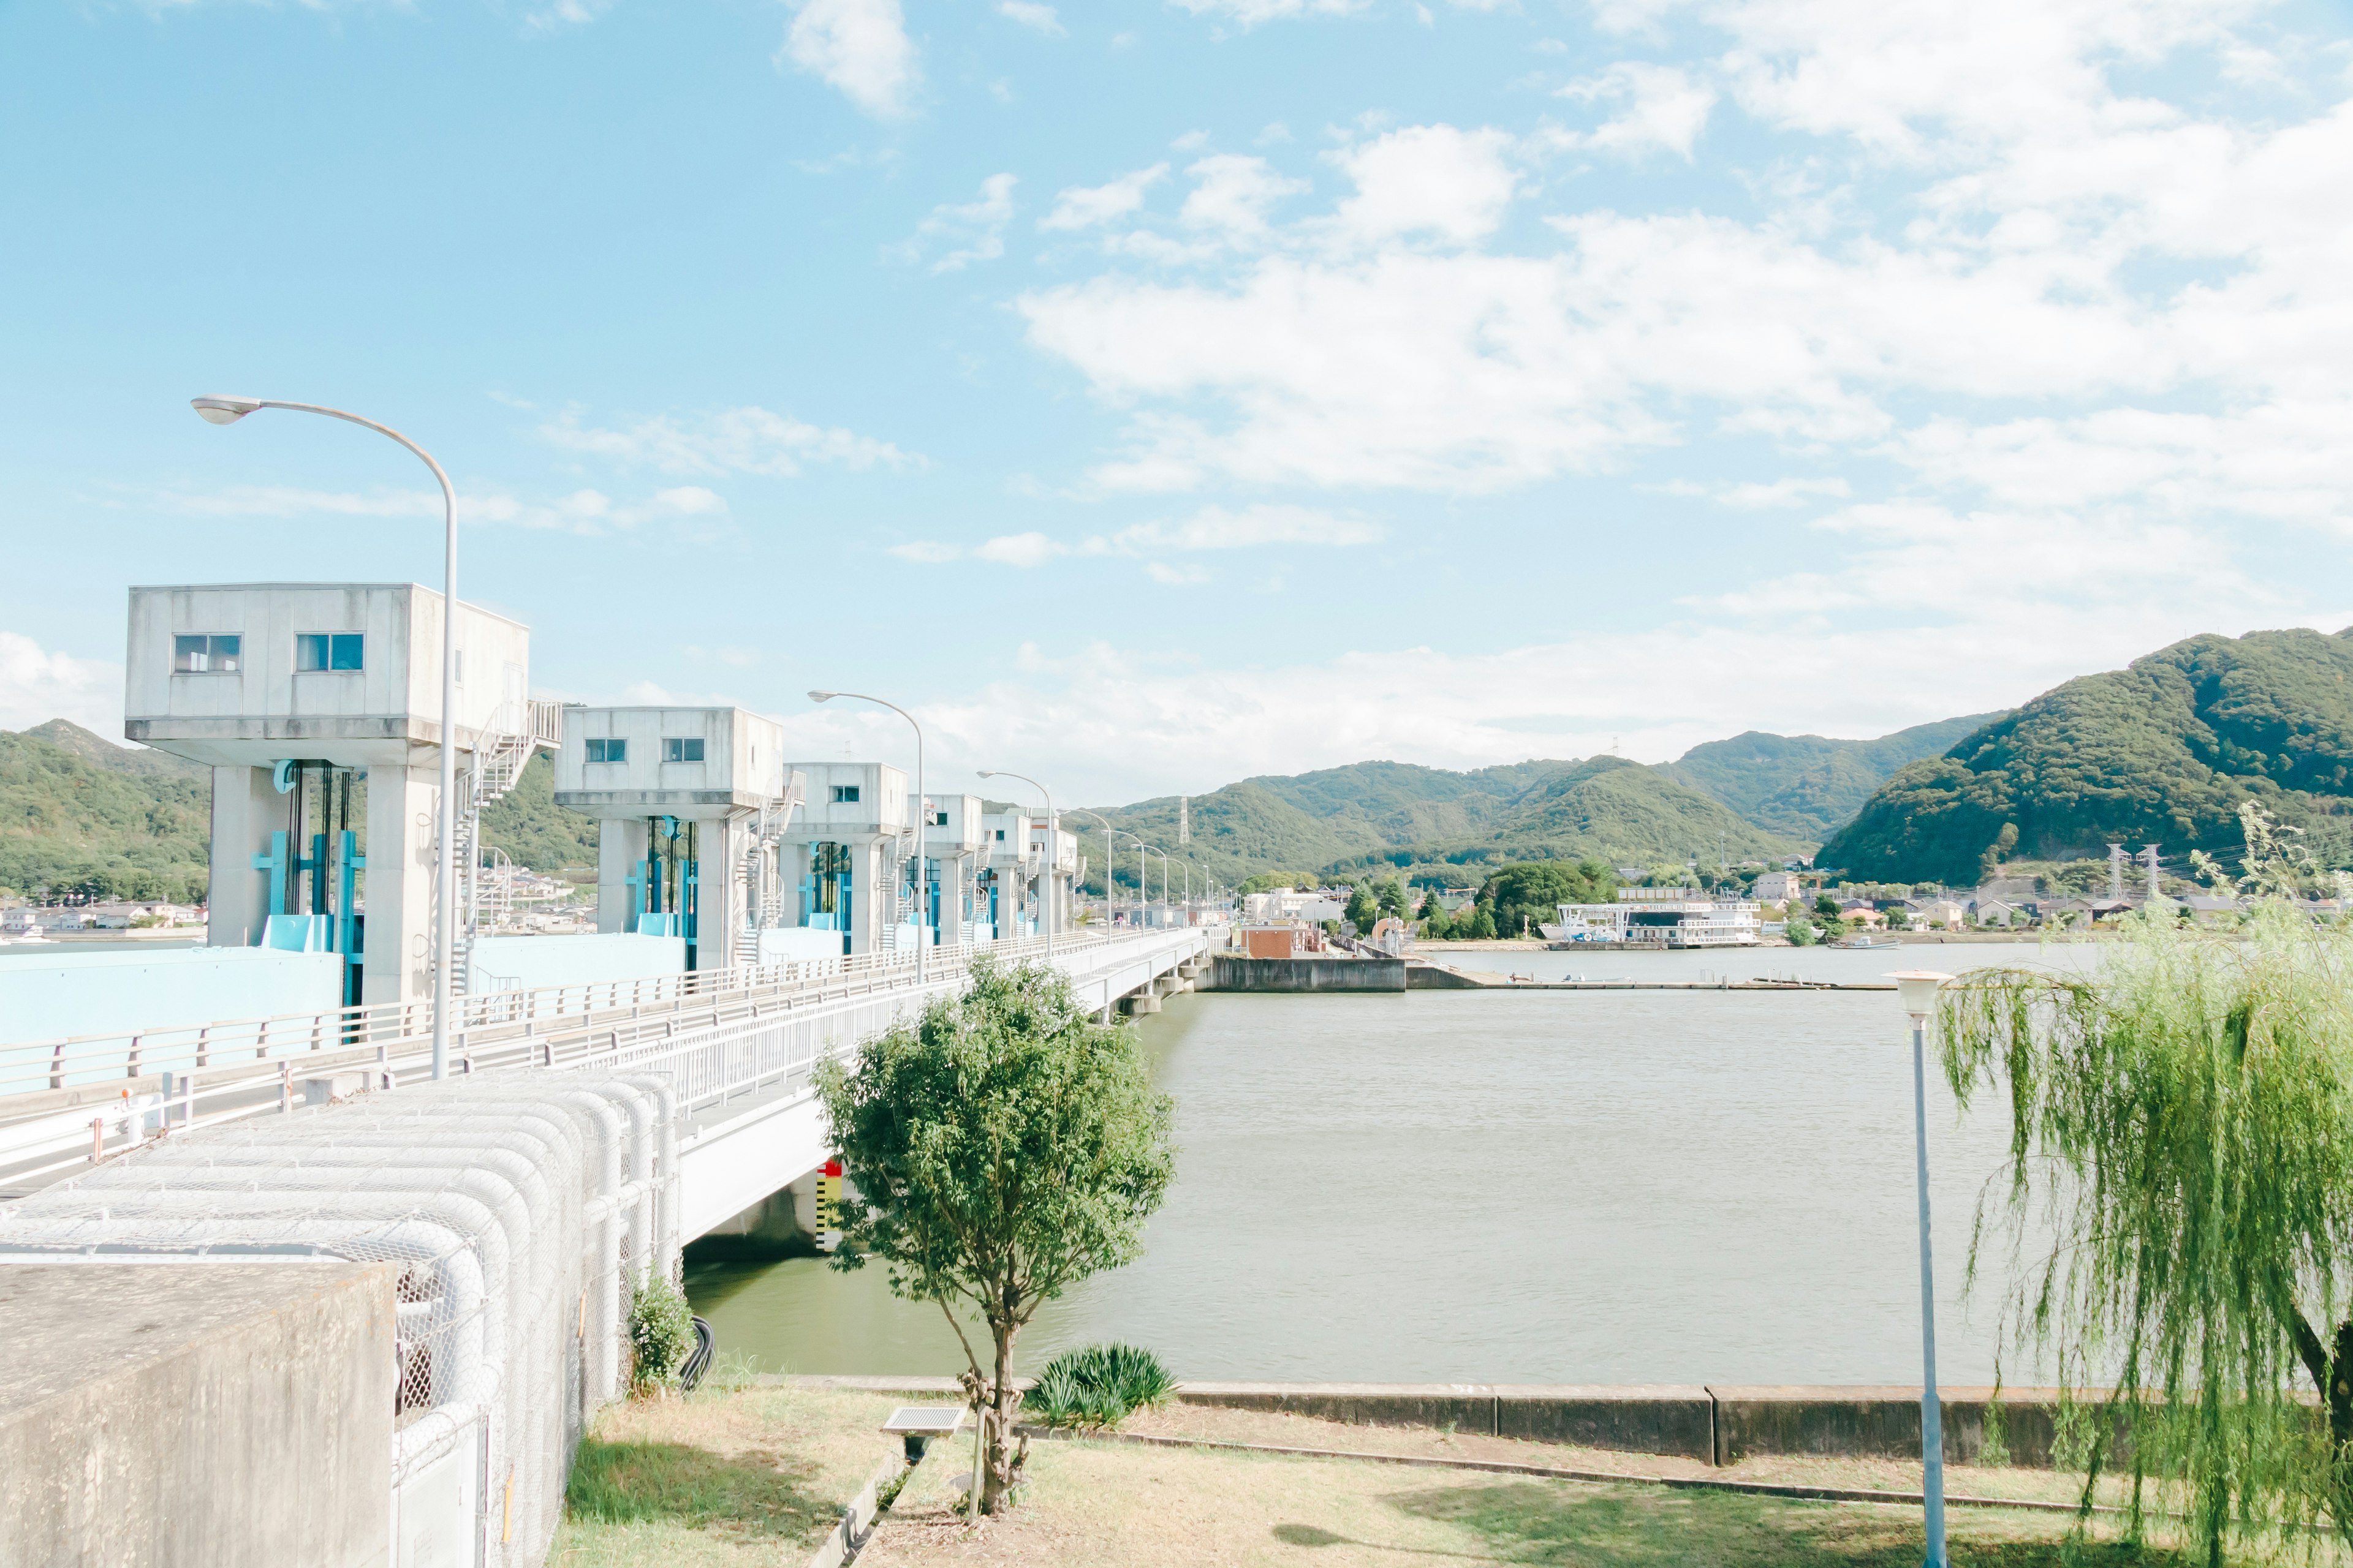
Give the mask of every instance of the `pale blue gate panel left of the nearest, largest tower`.
M 165 952 L 0 952 L 0 1048 L 68 1034 L 195 1027 L 216 1018 L 332 1013 L 336 952 L 181 947 Z

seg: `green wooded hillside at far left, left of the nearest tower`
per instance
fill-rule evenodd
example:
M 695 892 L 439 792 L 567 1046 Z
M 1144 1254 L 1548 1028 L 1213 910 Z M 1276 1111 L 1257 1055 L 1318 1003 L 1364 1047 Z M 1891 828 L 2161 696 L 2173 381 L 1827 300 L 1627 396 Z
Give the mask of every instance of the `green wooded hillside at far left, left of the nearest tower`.
M 64 719 L 0 729 L 0 886 L 200 900 L 212 778 L 165 764 Z

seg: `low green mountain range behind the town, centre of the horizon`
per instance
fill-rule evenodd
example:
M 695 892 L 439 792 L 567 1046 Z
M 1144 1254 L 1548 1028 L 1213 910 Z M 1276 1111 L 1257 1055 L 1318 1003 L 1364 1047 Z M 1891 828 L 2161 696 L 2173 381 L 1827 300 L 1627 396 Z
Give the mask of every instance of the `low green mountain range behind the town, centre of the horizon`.
M 1475 867 L 1506 860 L 1652 865 L 1697 856 L 1713 863 L 1718 851 L 1753 860 L 1802 849 L 1798 839 L 1739 818 L 1664 769 L 1621 757 L 1522 762 L 1471 773 L 1358 762 L 1245 778 L 1191 799 L 1193 842 L 1184 851 L 1176 846 L 1174 795 L 1104 809 L 1101 816 L 1179 860 L 1191 858 L 1226 886 L 1264 872 L 1348 877 L 1372 865 L 1478 882 Z M 1073 827 L 1087 832 L 1087 825 L 1073 813 Z M 1099 832 L 1087 837 L 1087 853 L 1101 886 Z M 1118 860 L 1118 879 L 1134 886 L 1136 849 L 1125 837 Z M 1148 865 L 1158 889 L 1160 863 L 1151 858 Z

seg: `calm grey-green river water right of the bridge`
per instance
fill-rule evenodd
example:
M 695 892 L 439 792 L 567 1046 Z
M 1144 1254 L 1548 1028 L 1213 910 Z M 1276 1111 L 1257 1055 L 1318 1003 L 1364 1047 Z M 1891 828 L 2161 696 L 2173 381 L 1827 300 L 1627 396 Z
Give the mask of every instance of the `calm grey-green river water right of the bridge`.
M 1539 978 L 1878 980 L 2097 950 L 1433 957 Z M 1913 1081 L 1887 992 L 1184 994 L 1139 1023 L 1181 1145 L 1144 1258 L 1052 1302 L 1021 1366 L 1120 1338 L 1179 1378 L 1918 1382 Z M 1969 1218 L 2007 1114 L 1929 1065 L 1939 1371 L 1991 1382 Z M 689 1262 L 762 1371 L 953 1373 L 882 1267 Z M 2024 1361 L 2005 1366 L 2026 1382 Z

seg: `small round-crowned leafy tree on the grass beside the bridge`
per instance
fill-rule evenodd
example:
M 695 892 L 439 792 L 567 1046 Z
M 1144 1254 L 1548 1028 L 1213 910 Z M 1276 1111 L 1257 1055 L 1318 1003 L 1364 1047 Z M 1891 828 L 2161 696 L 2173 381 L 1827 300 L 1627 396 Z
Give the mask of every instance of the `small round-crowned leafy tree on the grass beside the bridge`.
M 1172 1103 L 1134 1034 L 1094 1023 L 1042 964 L 976 969 L 962 997 L 868 1041 L 854 1067 L 821 1065 L 816 1088 L 859 1190 L 835 1267 L 882 1258 L 894 1295 L 939 1302 L 986 1425 L 981 1512 L 998 1514 L 1021 1401 L 1014 1335 L 1064 1288 L 1134 1260 L 1176 1166 Z M 988 1326 L 986 1366 L 958 1302 Z

